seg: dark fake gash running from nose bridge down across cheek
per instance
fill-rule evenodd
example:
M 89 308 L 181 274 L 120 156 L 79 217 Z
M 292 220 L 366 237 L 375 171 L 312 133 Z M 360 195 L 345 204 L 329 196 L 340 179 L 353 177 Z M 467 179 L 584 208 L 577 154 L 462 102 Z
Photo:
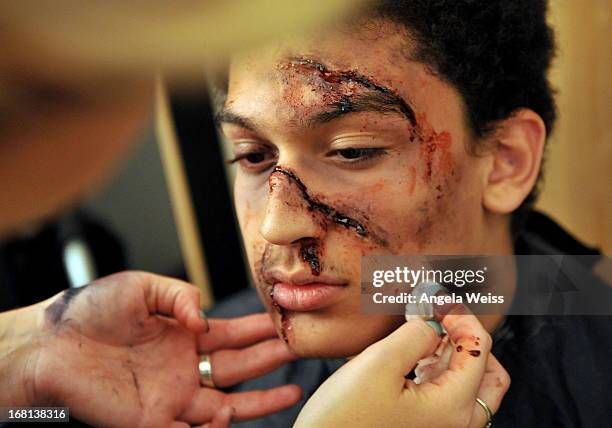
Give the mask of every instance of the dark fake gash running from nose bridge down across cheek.
M 325 204 L 319 201 L 317 198 L 312 197 L 308 193 L 306 185 L 290 169 L 284 168 L 282 166 L 276 166 L 274 167 L 274 170 L 272 170 L 270 176 L 274 174 L 282 174 L 286 176 L 293 184 L 295 184 L 300 190 L 301 196 L 308 204 L 308 208 L 310 210 L 321 213 L 331 223 L 344 226 L 347 229 L 351 229 L 359 236 L 370 238 L 376 243 L 383 246 L 387 245 L 387 242 L 384 239 L 372 233 L 362 222 L 351 218 L 348 215 L 339 211 L 338 209 L 332 207 L 331 205 Z

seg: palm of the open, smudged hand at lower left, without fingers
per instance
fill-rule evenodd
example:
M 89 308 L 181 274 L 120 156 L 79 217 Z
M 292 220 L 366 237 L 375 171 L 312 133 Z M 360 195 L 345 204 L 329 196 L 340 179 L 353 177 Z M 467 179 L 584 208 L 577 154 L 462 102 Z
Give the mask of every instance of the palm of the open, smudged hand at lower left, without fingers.
M 172 426 L 199 389 L 196 335 L 150 314 L 138 286 L 105 284 L 79 294 L 46 311 L 50 334 L 35 377 L 46 384 L 35 388 L 61 397 L 63 406 L 88 402 L 80 406 L 85 414 L 73 416 L 104 426 Z

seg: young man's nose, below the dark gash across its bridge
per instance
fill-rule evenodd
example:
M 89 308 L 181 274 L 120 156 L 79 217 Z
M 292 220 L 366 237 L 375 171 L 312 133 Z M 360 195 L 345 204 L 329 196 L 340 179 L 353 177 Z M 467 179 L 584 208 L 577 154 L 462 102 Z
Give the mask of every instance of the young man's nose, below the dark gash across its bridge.
M 323 232 L 318 212 L 312 210 L 304 191 L 289 176 L 273 172 L 266 214 L 260 232 L 275 245 L 290 245 L 307 238 L 320 238 Z

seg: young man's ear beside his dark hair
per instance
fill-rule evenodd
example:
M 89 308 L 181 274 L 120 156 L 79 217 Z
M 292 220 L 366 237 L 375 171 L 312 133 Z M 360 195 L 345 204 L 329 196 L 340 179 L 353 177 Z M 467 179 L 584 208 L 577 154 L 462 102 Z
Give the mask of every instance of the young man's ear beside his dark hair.
M 483 206 L 496 214 L 517 209 L 535 185 L 542 163 L 546 126 L 532 110 L 517 110 L 491 135 L 493 162 L 483 192 Z

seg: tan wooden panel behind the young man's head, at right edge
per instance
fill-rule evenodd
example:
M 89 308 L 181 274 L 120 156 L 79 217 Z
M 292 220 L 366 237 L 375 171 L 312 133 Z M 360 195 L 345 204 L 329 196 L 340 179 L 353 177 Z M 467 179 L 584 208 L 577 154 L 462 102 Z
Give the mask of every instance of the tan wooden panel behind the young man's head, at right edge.
M 538 207 L 585 243 L 612 253 L 610 0 L 553 0 L 559 118 Z

